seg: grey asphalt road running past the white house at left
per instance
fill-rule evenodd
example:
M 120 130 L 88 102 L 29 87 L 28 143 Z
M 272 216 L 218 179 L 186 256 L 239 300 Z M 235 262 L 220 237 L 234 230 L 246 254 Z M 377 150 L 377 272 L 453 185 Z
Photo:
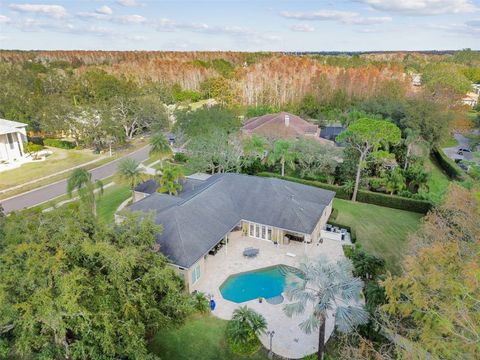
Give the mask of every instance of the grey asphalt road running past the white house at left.
M 124 156 L 123 158 L 114 160 L 108 164 L 92 169 L 90 170 L 90 172 L 92 173 L 92 179 L 101 180 L 115 174 L 115 172 L 117 171 L 118 162 L 121 159 L 128 157 L 137 161 L 146 160 L 148 159 L 148 151 L 149 147 L 145 146 L 129 155 Z M 21 210 L 44 203 L 66 193 L 67 180 L 65 179 L 50 185 L 40 187 L 38 189 L 28 191 L 26 193 L 17 195 L 6 200 L 0 200 L 0 204 L 2 204 L 5 213 L 9 213 L 11 211 Z

